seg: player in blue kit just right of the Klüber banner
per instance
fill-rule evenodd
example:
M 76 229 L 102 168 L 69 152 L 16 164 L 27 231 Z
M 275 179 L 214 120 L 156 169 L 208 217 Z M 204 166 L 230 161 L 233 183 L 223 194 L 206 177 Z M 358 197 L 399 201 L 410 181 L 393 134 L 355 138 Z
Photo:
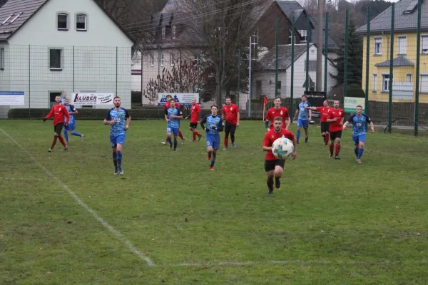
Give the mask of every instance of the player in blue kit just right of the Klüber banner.
M 131 123 L 131 116 L 128 111 L 121 108 L 121 98 L 116 96 L 113 99 L 114 108 L 107 111 L 104 125 L 110 125 L 110 142 L 113 150 L 114 175 L 121 173 L 122 169 L 122 149 L 126 139 L 126 131 Z

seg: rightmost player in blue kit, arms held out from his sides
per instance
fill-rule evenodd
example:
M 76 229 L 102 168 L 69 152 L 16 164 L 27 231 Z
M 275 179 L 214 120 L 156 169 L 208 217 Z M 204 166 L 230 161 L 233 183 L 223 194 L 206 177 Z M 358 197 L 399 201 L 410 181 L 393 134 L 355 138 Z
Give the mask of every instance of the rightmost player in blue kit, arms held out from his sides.
M 362 106 L 357 105 L 357 113 L 353 114 L 343 124 L 343 130 L 346 130 L 347 125 L 352 123 L 352 140 L 354 141 L 354 151 L 357 157 L 357 162 L 361 163 L 362 152 L 364 152 L 365 135 L 366 135 L 366 123 L 370 123 L 370 130 L 374 133 L 374 125 L 369 116 L 362 113 Z

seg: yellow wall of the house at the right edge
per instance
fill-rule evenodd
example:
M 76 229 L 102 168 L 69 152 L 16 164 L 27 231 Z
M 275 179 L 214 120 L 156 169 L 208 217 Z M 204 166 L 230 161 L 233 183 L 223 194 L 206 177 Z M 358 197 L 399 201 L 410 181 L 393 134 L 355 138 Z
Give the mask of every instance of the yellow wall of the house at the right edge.
M 421 33 L 423 35 L 425 33 Z M 414 67 L 394 67 L 394 81 L 405 82 L 406 73 L 412 73 L 412 82 L 416 90 L 416 54 L 417 54 L 417 33 L 394 33 L 394 58 L 398 56 L 398 37 L 406 36 L 407 51 L 404 56 L 414 63 Z M 382 37 L 382 55 L 374 55 L 374 38 Z M 391 48 L 391 36 L 389 34 L 370 35 L 370 66 L 369 66 L 369 100 L 388 101 L 389 94 L 382 93 L 382 73 L 389 73 L 389 67 L 378 68 L 375 65 L 389 60 Z M 365 90 L 366 76 L 366 46 L 367 36 L 363 39 L 364 53 L 362 61 L 362 89 Z M 373 91 L 373 74 L 377 73 L 377 90 Z M 420 56 L 420 74 L 428 74 L 428 55 Z M 394 100 L 394 102 L 410 102 L 410 100 Z M 420 103 L 428 103 L 428 93 L 419 94 Z

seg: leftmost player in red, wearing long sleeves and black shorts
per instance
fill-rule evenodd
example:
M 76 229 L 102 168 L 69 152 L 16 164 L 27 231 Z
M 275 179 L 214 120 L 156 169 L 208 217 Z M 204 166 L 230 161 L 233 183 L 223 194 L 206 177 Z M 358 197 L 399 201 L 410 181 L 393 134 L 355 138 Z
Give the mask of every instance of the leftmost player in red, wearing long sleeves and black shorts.
M 68 150 L 68 147 L 66 145 L 66 142 L 64 142 L 63 137 L 61 136 L 61 131 L 63 129 L 64 124 L 68 125 L 68 121 L 70 120 L 70 114 L 67 112 L 66 106 L 62 105 L 61 103 L 61 96 L 55 97 L 56 105 L 54 105 L 51 109 L 51 112 L 46 116 L 46 118 L 43 119 L 43 123 L 46 122 L 46 120 L 49 120 L 52 115 L 54 115 L 54 140 L 52 140 L 52 145 L 49 147 L 49 152 L 51 152 L 54 149 L 54 146 L 56 144 L 56 140 L 59 139 L 59 141 L 63 145 L 63 150 Z M 64 122 L 64 117 L 66 118 Z

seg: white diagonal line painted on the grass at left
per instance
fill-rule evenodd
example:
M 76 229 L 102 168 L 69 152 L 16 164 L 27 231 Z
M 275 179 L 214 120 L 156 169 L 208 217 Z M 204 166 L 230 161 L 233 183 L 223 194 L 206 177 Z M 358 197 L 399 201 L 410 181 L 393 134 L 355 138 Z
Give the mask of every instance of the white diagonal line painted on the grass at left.
M 8 137 L 12 142 L 15 143 L 15 145 L 18 145 L 19 147 L 21 147 L 22 150 L 24 150 L 24 152 L 26 152 L 27 155 L 29 155 L 29 157 L 31 158 L 31 160 L 34 161 L 34 163 L 36 163 L 36 165 L 39 165 L 39 167 L 44 170 L 44 172 L 46 172 L 46 174 L 51 177 L 52 179 L 56 180 L 56 182 L 61 185 L 63 187 L 63 190 L 66 191 L 69 195 L 71 195 L 71 197 L 73 197 L 73 199 L 79 204 L 81 205 L 81 207 L 83 207 L 84 209 L 86 209 L 86 211 L 92 215 L 92 217 L 96 218 L 97 221 L 102 224 L 104 227 L 106 227 L 108 229 L 108 231 L 110 231 L 112 234 L 114 234 L 121 242 L 123 242 L 124 244 L 126 244 L 126 247 L 128 247 L 128 249 L 131 250 L 131 252 L 133 252 L 134 254 L 136 254 L 139 258 L 143 259 L 144 261 L 147 262 L 148 266 L 155 266 L 155 264 L 153 263 L 153 261 L 151 261 L 151 259 L 149 259 L 148 257 L 146 257 L 142 252 L 140 252 L 138 249 L 136 249 L 136 247 L 133 246 L 133 244 L 131 244 L 131 242 L 128 241 L 128 239 L 126 239 L 126 237 L 123 236 L 123 234 L 121 234 L 121 232 L 118 232 L 116 229 L 113 229 L 113 227 L 111 227 L 110 224 L 108 224 L 108 222 L 104 221 L 103 218 L 101 218 L 100 216 L 98 216 L 98 214 L 96 214 L 96 212 L 93 211 L 93 209 L 91 209 L 90 207 L 88 207 L 87 204 L 85 204 L 73 191 L 70 190 L 70 188 L 68 188 L 67 185 L 65 185 L 61 180 L 59 180 L 56 176 L 54 176 L 51 172 L 49 172 L 49 170 L 47 170 L 43 165 L 40 164 L 40 162 L 38 162 L 36 160 L 36 158 L 34 158 L 33 155 L 31 155 L 31 153 L 26 150 L 25 147 L 19 145 L 19 143 L 12 138 L 9 134 L 7 134 L 4 130 L 2 130 L 0 128 L 0 132 L 4 133 L 4 135 L 6 135 L 6 137 Z

